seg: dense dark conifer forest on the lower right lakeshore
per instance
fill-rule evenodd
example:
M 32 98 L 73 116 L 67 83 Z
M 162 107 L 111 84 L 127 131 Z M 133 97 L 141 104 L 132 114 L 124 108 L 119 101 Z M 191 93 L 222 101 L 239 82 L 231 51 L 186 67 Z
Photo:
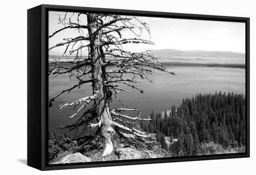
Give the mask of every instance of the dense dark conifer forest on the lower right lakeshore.
M 173 105 L 169 114 L 151 114 L 150 124 L 142 122 L 147 133 L 156 133 L 162 148 L 173 156 L 203 154 L 209 143 L 223 149 L 239 149 L 245 145 L 244 94 L 196 94 Z M 170 146 L 165 136 L 170 138 Z

